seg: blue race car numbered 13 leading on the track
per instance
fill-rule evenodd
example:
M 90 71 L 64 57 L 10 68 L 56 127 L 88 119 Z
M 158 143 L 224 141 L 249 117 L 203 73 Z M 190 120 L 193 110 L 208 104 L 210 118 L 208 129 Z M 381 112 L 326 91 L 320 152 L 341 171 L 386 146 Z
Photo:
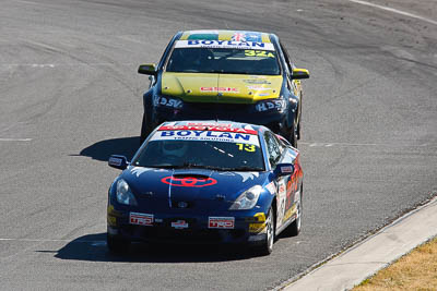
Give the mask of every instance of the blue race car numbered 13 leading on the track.
M 131 241 L 249 243 L 270 254 L 275 235 L 300 231 L 299 153 L 261 125 L 165 122 L 109 187 L 107 245 Z

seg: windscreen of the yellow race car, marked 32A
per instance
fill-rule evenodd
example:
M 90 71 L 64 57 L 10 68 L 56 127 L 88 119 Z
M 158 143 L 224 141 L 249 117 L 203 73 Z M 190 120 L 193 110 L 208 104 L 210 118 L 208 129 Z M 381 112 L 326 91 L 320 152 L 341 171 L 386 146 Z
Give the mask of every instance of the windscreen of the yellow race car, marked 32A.
M 179 40 L 178 43 L 180 43 Z M 272 44 L 268 44 L 272 45 Z M 247 46 L 188 47 L 177 45 L 167 62 L 167 72 L 279 75 L 276 51 Z

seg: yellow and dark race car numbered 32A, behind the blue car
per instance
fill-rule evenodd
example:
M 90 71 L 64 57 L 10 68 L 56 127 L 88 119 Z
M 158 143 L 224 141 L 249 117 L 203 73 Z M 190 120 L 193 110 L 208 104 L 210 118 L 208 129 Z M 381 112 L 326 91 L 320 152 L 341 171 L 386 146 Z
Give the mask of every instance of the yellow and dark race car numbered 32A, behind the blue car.
M 241 31 L 177 33 L 150 75 L 143 95 L 141 142 L 164 121 L 229 120 L 265 125 L 297 147 L 302 86 L 297 69 L 274 34 Z

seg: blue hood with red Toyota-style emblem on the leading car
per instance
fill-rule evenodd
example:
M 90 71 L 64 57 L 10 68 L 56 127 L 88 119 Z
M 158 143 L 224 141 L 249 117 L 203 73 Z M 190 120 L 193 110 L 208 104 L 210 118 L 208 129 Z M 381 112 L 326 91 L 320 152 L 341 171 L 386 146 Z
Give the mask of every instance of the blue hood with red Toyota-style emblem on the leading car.
M 227 172 L 204 169 L 129 167 L 123 173 L 135 195 L 175 201 L 235 201 L 244 191 L 264 185 L 268 172 Z

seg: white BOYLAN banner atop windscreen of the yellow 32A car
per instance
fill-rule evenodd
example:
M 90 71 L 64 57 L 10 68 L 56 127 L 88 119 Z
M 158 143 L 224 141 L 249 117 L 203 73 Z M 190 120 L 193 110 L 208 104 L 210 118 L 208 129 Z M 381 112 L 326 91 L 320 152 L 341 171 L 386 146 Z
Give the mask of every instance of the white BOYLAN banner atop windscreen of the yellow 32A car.
M 231 49 L 258 49 L 274 51 L 273 44 L 237 40 L 177 40 L 175 48 L 231 48 Z

